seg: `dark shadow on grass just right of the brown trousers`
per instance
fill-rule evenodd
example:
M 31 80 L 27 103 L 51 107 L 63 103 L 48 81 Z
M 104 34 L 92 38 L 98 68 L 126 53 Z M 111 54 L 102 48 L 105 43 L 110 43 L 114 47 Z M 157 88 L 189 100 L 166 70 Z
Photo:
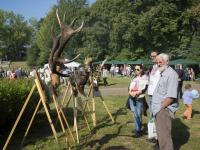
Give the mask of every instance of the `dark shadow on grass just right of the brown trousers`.
M 186 144 L 190 138 L 189 127 L 186 126 L 180 118 L 176 118 L 172 123 L 172 138 L 174 150 L 179 150 L 182 145 Z

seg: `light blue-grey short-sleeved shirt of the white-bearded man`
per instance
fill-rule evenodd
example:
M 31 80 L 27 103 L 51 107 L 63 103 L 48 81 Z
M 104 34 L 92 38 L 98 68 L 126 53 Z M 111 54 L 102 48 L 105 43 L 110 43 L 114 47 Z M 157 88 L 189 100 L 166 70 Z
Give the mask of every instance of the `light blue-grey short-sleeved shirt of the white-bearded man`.
M 160 80 L 154 90 L 152 97 L 152 110 L 155 116 L 162 108 L 162 102 L 165 98 L 177 98 L 178 75 L 170 66 L 161 72 Z M 173 104 L 172 104 L 173 105 Z M 167 108 L 173 109 L 171 105 Z M 173 112 L 173 110 L 171 110 Z

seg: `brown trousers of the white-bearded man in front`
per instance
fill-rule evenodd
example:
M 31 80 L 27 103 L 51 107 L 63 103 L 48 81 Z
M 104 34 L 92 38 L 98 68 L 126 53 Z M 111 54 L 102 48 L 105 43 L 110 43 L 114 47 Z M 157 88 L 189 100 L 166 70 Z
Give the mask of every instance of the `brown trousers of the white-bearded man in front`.
M 169 112 L 162 109 L 156 114 L 156 132 L 160 150 L 173 150 L 173 141 L 171 136 L 172 121 Z

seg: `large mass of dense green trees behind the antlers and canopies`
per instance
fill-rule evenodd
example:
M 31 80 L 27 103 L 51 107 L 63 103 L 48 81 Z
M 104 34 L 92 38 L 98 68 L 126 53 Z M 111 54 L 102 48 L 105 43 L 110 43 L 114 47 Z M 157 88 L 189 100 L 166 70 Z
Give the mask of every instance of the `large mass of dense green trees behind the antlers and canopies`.
M 67 43 L 63 57 L 70 59 L 80 53 L 82 60 L 88 56 L 94 61 L 136 60 L 147 58 L 152 49 L 158 49 L 172 58 L 195 55 L 194 58 L 199 59 L 199 0 L 97 0 L 91 6 L 86 0 L 59 0 L 45 18 L 31 24 L 27 57 L 30 65 L 44 64 L 48 60 L 52 36 L 60 33 L 56 9 L 61 18 L 65 16 L 67 24 L 78 17 L 74 28 L 84 20 L 84 28 Z M 0 12 L 0 29 L 8 35 L 6 24 L 2 24 L 7 22 L 2 21 L 6 20 L 4 16 Z M 2 39 L 1 45 L 6 41 Z M 18 41 L 16 36 L 15 39 Z

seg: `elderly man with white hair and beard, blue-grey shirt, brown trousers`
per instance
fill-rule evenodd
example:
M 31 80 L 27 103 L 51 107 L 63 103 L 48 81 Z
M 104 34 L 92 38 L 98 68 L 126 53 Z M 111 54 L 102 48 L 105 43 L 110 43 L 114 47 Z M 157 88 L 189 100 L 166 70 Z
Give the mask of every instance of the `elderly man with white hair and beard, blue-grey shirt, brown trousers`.
M 173 150 L 171 117 L 174 117 L 178 108 L 178 75 L 168 66 L 169 56 L 167 54 L 159 54 L 156 60 L 160 71 L 160 80 L 152 96 L 152 111 L 155 116 L 159 148 Z

